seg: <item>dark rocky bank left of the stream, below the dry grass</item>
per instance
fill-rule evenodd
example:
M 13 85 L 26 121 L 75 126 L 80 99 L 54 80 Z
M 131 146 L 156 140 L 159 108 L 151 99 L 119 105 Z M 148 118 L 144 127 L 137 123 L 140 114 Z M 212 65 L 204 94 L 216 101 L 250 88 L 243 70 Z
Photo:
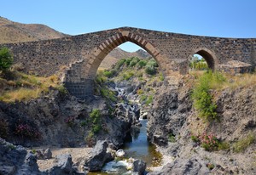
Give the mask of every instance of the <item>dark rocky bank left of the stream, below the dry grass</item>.
M 112 105 L 114 107 L 114 104 Z M 0 119 L 6 121 L 8 127 L 9 137 L 5 139 L 13 144 L 26 147 L 43 145 L 74 147 L 84 144 L 94 146 L 97 140 L 108 138 L 113 148 L 119 149 L 131 125 L 138 123 L 135 108 L 132 109 L 127 104 L 121 106 L 124 106 L 121 108 L 124 111 L 119 108 L 117 110 L 119 116 L 110 117 L 107 102 L 100 97 L 90 101 L 79 101 L 68 94 L 63 96 L 53 90 L 44 98 L 32 99 L 26 103 L 0 102 Z M 83 127 L 81 123 L 90 121 L 90 112 L 93 109 L 101 110 L 103 129 L 95 138 L 84 143 L 84 138 L 90 133 L 91 123 L 88 122 Z M 20 124 L 26 124 L 32 133 L 38 133 L 38 136 L 16 134 L 16 126 Z

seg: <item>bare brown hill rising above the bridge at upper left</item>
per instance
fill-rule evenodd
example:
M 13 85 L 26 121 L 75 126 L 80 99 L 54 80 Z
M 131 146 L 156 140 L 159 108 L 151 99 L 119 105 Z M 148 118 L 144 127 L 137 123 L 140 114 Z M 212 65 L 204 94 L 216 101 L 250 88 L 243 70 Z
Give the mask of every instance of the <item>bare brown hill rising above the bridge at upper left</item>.
M 32 42 L 67 36 L 47 25 L 21 24 L 0 17 L 0 43 Z

